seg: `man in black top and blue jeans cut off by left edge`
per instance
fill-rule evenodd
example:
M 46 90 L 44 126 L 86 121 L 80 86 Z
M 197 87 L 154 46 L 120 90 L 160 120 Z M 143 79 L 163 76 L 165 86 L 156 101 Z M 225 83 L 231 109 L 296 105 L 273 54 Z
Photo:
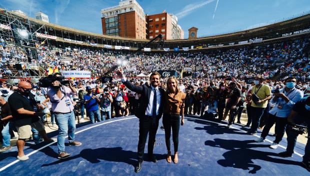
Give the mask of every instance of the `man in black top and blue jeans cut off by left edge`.
M 0 105 L 1 105 L 1 119 L 0 119 L 0 125 L 4 126 L 4 128 L 1 131 L 2 134 L 2 148 L 0 149 L 1 152 L 5 152 L 8 149 L 10 149 L 10 134 L 9 134 L 9 129 L 13 128 L 13 123 L 10 122 L 12 115 L 11 111 L 9 108 L 9 105 L 7 101 L 4 100 L 3 97 L 0 96 Z

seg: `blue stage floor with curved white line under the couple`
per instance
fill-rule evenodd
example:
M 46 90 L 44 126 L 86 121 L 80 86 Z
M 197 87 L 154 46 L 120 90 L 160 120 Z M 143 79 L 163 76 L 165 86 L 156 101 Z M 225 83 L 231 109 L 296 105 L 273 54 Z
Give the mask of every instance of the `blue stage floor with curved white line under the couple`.
M 159 126 L 161 126 L 161 120 Z M 179 132 L 179 163 L 165 161 L 164 131 L 158 128 L 154 154 L 158 160 L 145 160 L 134 173 L 138 142 L 138 119 L 116 118 L 76 129 L 79 147 L 66 147 L 71 157 L 58 160 L 56 142 L 34 145 L 27 142 L 29 160 L 16 160 L 16 147 L 0 154 L 1 176 L 307 176 L 301 165 L 304 145 L 296 144 L 292 158 L 280 158 L 286 140 L 276 150 L 269 149 L 274 137 L 255 143 L 258 136 L 245 135 L 244 127 L 185 117 Z M 56 138 L 56 137 L 54 137 Z M 171 141 L 171 144 L 172 141 Z M 173 148 L 173 146 L 171 146 Z M 145 152 L 147 144 L 145 146 Z M 173 151 L 172 151 L 173 152 Z M 146 157 L 144 157 L 146 158 Z

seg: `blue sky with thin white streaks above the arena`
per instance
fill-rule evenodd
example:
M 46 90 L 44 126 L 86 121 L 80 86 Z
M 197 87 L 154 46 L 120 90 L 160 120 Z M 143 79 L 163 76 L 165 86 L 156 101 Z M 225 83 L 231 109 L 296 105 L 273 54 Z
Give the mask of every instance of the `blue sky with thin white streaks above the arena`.
M 176 14 L 188 37 L 195 26 L 198 36 L 244 30 L 310 11 L 310 0 L 137 0 L 147 14 L 166 10 Z M 0 7 L 20 9 L 28 16 L 41 10 L 50 23 L 102 33 L 100 10 L 119 0 L 0 0 Z M 215 10 L 216 7 L 216 10 Z

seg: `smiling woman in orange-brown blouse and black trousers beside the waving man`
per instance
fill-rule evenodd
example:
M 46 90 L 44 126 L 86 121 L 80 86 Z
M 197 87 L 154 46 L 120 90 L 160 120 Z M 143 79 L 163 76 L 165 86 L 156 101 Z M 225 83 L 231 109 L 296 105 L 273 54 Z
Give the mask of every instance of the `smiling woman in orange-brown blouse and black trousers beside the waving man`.
M 171 76 L 167 80 L 167 89 L 164 93 L 164 110 L 162 116 L 162 124 L 165 133 L 165 142 L 167 147 L 167 162 L 171 163 L 170 136 L 172 129 L 172 141 L 174 146 L 173 163 L 178 162 L 178 132 L 180 124 L 184 125 L 184 99 L 186 94 L 181 92 L 178 87 L 177 79 Z M 181 120 L 180 120 L 181 116 Z

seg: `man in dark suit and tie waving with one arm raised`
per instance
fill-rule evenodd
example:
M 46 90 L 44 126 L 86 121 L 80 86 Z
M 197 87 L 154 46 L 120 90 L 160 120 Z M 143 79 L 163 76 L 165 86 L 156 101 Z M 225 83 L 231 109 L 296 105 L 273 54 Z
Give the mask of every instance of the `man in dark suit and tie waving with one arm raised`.
M 121 68 L 118 69 L 116 73 L 129 90 L 141 94 L 140 105 L 134 114 L 139 118 L 138 163 L 134 168 L 134 172 L 138 173 L 141 170 L 143 162 L 144 147 L 148 132 L 148 158 L 154 163 L 157 162 L 153 155 L 153 148 L 158 122 L 163 113 L 164 90 L 158 87 L 160 84 L 160 74 L 158 72 L 154 72 L 150 75 L 150 86 L 146 84 L 142 86 L 132 85 L 123 75 Z

